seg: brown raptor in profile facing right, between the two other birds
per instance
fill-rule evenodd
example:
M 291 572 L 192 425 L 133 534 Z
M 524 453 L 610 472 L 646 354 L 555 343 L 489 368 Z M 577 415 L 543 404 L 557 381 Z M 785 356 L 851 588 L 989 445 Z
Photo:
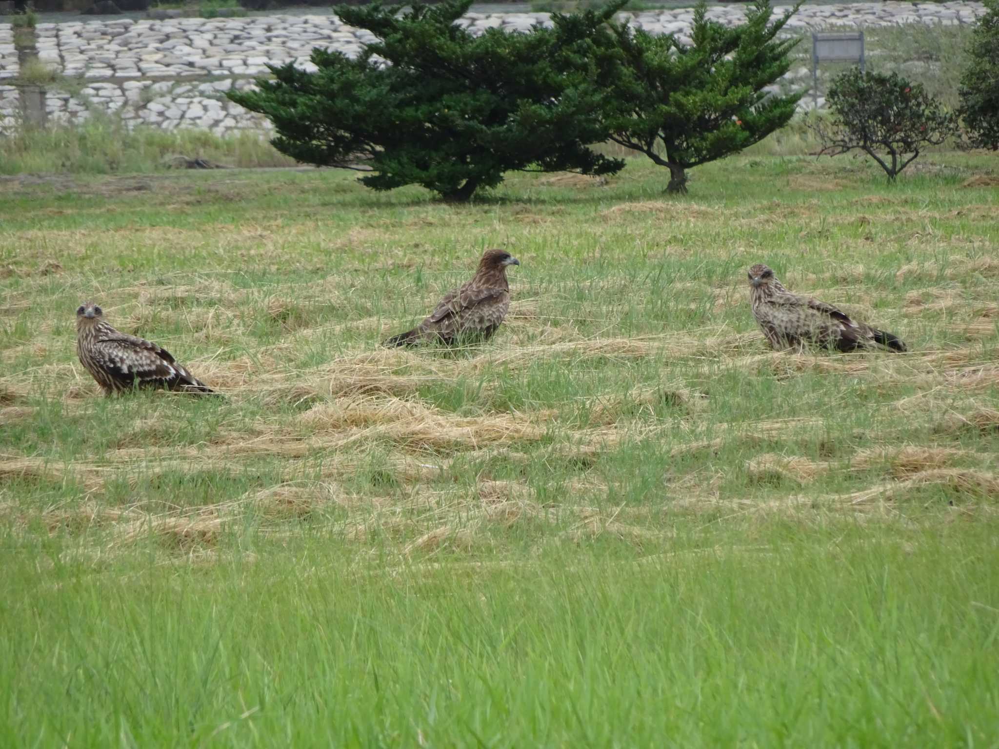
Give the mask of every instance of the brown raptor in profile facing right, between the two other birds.
M 502 250 L 487 250 L 475 278 L 444 296 L 437 309 L 412 331 L 393 336 L 384 346 L 437 342 L 445 346 L 487 341 L 509 309 L 506 268 L 520 262 Z

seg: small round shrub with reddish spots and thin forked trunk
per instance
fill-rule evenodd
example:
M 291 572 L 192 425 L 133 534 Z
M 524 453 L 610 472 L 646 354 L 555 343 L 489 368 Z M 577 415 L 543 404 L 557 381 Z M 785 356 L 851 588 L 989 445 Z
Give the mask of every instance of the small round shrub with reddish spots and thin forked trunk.
M 957 133 L 957 117 L 897 73 L 861 73 L 859 68 L 833 79 L 829 118 L 812 125 L 822 143 L 819 154 L 863 151 L 889 180 L 927 146 L 939 146 Z

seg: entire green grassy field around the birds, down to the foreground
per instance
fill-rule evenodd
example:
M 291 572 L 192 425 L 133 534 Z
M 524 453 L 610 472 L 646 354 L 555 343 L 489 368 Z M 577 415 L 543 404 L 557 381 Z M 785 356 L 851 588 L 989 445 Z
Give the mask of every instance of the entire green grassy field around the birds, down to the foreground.
M 999 746 L 996 167 L 0 182 L 0 745 Z M 379 346 L 493 246 L 492 342 Z M 85 300 L 228 397 L 101 397 Z

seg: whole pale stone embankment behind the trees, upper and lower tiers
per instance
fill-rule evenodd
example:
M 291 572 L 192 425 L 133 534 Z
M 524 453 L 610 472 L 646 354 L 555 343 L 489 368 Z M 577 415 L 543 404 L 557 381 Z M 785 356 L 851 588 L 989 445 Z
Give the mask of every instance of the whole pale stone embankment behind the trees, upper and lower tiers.
M 778 7 L 778 13 L 785 8 Z M 726 25 L 745 18 L 745 6 L 708 9 Z M 971 24 L 984 12 L 978 2 L 853 3 L 802 7 L 789 21 L 789 33 L 828 28 L 875 28 L 904 24 Z M 633 26 L 654 34 L 675 34 L 689 43 L 692 9 L 622 14 Z M 546 13 L 470 13 L 459 22 L 473 33 L 489 28 L 528 31 L 547 26 Z M 14 78 L 17 51 L 9 25 L 0 24 L 0 78 Z M 251 86 L 268 72 L 266 65 L 288 62 L 313 68 L 314 47 L 360 54 L 374 37 L 340 23 L 336 16 L 254 16 L 250 18 L 130 19 L 43 23 L 35 30 L 38 57 L 75 86 L 50 87 L 45 121 L 86 119 L 92 112 L 117 113 L 129 126 L 145 123 L 164 129 L 204 128 L 217 134 L 238 130 L 267 132 L 270 123 L 225 99 L 231 87 Z M 809 87 L 807 68 L 793 69 L 780 87 Z M 16 93 L 16 92 L 15 92 Z M 0 129 L 16 120 L 9 91 L 0 88 Z M 819 99 L 819 106 L 822 100 Z M 805 100 L 802 106 L 810 106 Z

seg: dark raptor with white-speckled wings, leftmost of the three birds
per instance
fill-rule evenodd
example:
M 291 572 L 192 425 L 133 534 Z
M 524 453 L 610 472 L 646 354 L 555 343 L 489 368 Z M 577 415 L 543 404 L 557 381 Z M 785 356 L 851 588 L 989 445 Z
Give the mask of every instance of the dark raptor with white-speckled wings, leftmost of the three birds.
M 170 352 L 109 326 L 103 310 L 92 302 L 76 311 L 76 353 L 106 395 L 133 387 L 215 392 L 179 365 Z

